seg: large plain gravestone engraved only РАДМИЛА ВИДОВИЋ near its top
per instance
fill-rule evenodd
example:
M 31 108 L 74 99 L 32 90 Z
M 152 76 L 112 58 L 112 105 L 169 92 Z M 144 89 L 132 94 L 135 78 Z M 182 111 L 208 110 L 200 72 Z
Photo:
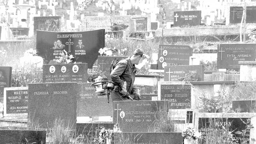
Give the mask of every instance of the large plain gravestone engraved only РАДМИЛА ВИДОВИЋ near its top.
M 44 128 L 60 119 L 75 129 L 77 87 L 77 83 L 28 84 L 28 118 Z

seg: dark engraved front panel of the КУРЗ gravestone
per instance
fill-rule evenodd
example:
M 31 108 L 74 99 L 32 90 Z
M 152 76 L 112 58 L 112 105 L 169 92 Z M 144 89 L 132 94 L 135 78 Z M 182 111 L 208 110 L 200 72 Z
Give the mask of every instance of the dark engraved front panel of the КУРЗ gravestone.
M 250 129 L 246 129 L 246 124 L 243 122 L 247 122 L 247 118 L 244 117 L 228 117 L 228 118 L 208 118 L 208 117 L 199 117 L 198 130 L 202 134 L 202 139 L 206 139 L 207 132 L 214 132 L 215 129 L 223 129 L 224 126 L 228 129 L 229 132 L 232 133 L 233 138 L 241 144 L 241 140 L 246 140 L 249 143 L 250 140 Z M 210 124 L 211 123 L 211 124 Z M 212 127 L 210 127 L 212 125 Z M 250 125 L 250 122 L 247 124 Z M 242 134 L 236 134 L 236 132 L 242 132 L 246 129 L 245 136 L 243 138 Z

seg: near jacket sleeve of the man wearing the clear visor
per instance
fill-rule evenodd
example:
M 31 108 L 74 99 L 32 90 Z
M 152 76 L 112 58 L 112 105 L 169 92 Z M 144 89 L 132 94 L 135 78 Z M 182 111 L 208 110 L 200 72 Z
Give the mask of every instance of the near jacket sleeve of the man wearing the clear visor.
M 124 72 L 126 66 L 127 66 L 127 61 L 122 60 L 116 64 L 116 67 L 110 73 L 110 77 L 112 81 L 118 84 L 120 87 L 124 85 L 124 81 L 120 79 L 120 76 Z

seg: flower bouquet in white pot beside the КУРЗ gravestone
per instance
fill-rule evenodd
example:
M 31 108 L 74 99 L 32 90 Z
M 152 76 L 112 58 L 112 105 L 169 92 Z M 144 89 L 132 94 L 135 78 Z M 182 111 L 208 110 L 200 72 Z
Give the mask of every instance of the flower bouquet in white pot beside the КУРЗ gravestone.
M 184 137 L 184 144 L 197 144 L 198 139 L 201 138 L 201 133 L 194 127 L 188 127 L 181 135 Z

